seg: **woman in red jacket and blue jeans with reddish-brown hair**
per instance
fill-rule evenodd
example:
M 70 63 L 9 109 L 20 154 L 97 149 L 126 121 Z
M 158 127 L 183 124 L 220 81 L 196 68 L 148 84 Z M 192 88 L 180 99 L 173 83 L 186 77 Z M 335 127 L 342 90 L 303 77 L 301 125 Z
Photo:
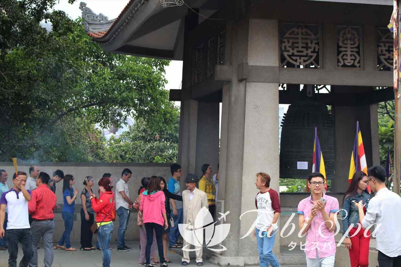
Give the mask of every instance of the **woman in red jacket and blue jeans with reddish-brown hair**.
M 110 267 L 111 251 L 110 240 L 113 234 L 113 214 L 115 209 L 114 194 L 111 191 L 113 184 L 109 178 L 101 178 L 99 180 L 100 197 L 97 199 L 95 194 L 91 193 L 90 200 L 92 208 L 96 212 L 97 240 L 99 241 L 101 254 L 103 259 L 103 267 Z

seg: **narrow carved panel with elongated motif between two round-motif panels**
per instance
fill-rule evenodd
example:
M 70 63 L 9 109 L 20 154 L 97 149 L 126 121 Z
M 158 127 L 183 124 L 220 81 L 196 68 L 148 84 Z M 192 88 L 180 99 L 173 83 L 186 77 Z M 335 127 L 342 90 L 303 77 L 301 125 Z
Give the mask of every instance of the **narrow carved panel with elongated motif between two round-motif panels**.
M 337 26 L 338 67 L 360 68 L 360 27 Z

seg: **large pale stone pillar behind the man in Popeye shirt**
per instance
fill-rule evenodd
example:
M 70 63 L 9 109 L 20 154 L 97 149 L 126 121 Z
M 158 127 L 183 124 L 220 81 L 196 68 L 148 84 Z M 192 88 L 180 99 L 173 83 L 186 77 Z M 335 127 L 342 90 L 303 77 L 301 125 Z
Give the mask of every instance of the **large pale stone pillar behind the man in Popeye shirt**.
M 256 219 L 256 213 L 244 216 L 242 220 L 239 217 L 255 209 L 257 189 L 254 183 L 258 172 L 267 172 L 272 178 L 271 188 L 279 191 L 279 90 L 276 83 L 238 81 L 237 66 L 243 62 L 249 65 L 278 66 L 278 22 L 260 19 L 235 22 L 232 34 L 233 71 L 228 96 L 224 175 L 224 211 L 230 211 L 226 223 L 230 223 L 231 229 L 223 241 L 227 250 L 214 254 L 211 262 L 225 266 L 257 265 L 259 256 L 253 234 L 241 239 Z M 277 257 L 279 243 L 279 235 L 276 235 L 273 251 Z

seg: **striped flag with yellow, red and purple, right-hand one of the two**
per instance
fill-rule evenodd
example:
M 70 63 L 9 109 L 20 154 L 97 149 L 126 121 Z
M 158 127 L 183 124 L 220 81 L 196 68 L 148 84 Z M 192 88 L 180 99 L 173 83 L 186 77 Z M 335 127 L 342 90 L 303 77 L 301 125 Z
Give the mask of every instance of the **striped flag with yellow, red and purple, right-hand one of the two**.
M 362 134 L 359 129 L 359 121 L 356 121 L 356 136 L 354 141 L 354 150 L 352 150 L 351 154 L 348 183 L 351 183 L 352 176 L 354 176 L 355 172 L 360 170 L 367 174 L 368 166 L 366 164 L 365 149 L 363 148 Z M 367 189 L 369 192 L 371 192 L 370 186 L 368 186 Z

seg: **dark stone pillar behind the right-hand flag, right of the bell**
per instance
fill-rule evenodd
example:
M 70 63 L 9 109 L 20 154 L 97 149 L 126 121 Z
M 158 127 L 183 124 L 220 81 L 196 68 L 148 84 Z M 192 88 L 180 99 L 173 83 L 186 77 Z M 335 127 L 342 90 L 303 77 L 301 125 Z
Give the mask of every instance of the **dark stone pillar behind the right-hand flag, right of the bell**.
M 332 86 L 336 93 L 346 93 L 349 91 L 364 93 L 373 90 L 373 87 L 352 87 Z M 362 133 L 363 146 L 368 167 L 372 166 L 372 152 L 377 149 L 372 146 L 372 127 L 371 127 L 371 105 L 360 106 L 334 106 L 334 131 L 335 131 L 335 174 L 332 180 L 332 192 L 345 192 L 348 189 L 348 174 L 352 149 L 356 134 L 356 121 L 359 121 Z M 377 114 L 376 114 L 377 116 Z M 374 126 L 374 125 L 373 125 Z M 378 138 L 378 137 L 377 137 Z M 378 141 L 376 143 L 378 146 Z

